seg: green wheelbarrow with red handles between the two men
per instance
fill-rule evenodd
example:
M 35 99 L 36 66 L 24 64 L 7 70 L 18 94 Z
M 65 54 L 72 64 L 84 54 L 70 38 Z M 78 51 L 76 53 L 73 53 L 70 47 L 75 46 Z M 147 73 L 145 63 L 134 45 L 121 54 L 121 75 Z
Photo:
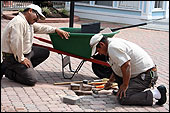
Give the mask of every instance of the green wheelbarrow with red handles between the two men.
M 65 75 L 64 75 L 64 68 L 68 64 L 69 64 L 70 71 L 74 72 L 73 75 L 71 77 L 69 77 L 69 79 L 73 78 L 75 73 L 78 73 L 78 71 L 80 70 L 80 68 L 82 67 L 82 65 L 84 64 L 85 61 L 92 62 L 93 67 L 97 64 L 97 65 L 104 67 L 105 70 L 106 70 L 106 68 L 110 68 L 110 65 L 107 62 L 105 62 L 101 58 L 98 58 L 100 56 L 96 57 L 98 59 L 95 59 L 95 57 L 94 58 L 91 57 L 92 49 L 89 45 L 89 42 L 90 42 L 91 37 L 94 36 L 95 34 L 81 33 L 81 28 L 60 28 L 60 29 L 70 32 L 69 39 L 62 39 L 57 33 L 50 33 L 49 36 L 50 36 L 51 41 L 40 38 L 40 37 L 34 37 L 34 38 L 36 38 L 40 41 L 52 44 L 53 48 L 35 44 L 35 43 L 34 43 L 34 45 L 45 47 L 45 48 L 48 48 L 50 51 L 57 52 L 57 53 L 61 54 L 61 56 L 62 56 L 62 74 L 63 74 L 64 78 L 68 78 L 68 77 L 65 77 Z M 111 32 L 111 33 L 103 33 L 103 35 L 111 38 L 117 33 L 119 33 L 118 30 Z M 64 57 L 63 54 L 66 56 Z M 73 71 L 71 69 L 70 56 L 82 59 L 82 61 L 80 62 L 80 64 L 78 65 L 78 67 L 75 71 Z M 103 58 L 103 56 L 102 56 L 102 58 Z M 95 72 L 96 72 L 96 70 L 94 70 L 94 73 Z M 98 76 L 98 74 L 97 74 L 97 76 Z

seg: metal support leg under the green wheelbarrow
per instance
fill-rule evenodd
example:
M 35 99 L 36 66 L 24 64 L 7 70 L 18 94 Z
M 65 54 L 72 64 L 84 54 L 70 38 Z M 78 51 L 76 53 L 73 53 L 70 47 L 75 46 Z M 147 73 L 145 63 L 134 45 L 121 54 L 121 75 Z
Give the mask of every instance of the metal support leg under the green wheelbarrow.
M 65 79 L 72 79 L 73 76 L 78 73 L 78 71 L 81 69 L 81 67 L 83 66 L 85 60 L 82 60 L 80 62 L 80 64 L 78 65 L 77 69 L 75 71 L 72 70 L 71 68 L 71 63 L 70 63 L 70 56 L 65 56 L 63 57 L 63 55 L 61 54 L 61 57 L 62 57 L 62 75 Z M 73 75 L 71 77 L 65 77 L 65 74 L 64 74 L 64 68 L 65 66 L 69 65 L 69 69 L 70 69 L 70 72 L 74 72 Z

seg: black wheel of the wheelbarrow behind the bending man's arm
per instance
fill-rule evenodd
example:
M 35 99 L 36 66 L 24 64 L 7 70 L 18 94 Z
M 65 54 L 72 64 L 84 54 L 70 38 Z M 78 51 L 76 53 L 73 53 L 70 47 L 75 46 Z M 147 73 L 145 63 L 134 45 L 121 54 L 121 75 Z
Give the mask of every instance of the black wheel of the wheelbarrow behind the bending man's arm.
M 107 61 L 107 57 L 105 55 L 95 55 L 93 58 L 97 60 Z M 100 79 L 102 78 L 110 78 L 111 74 L 113 73 L 111 67 L 107 67 L 104 65 L 96 64 L 92 62 L 92 70 L 96 76 Z

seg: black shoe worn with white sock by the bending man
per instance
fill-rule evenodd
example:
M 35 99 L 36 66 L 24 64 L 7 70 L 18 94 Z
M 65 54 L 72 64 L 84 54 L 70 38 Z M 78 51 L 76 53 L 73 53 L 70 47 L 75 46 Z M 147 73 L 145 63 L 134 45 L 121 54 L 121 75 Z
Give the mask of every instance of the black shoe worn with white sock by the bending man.
M 163 105 L 165 104 L 167 98 L 166 98 L 166 87 L 164 85 L 160 85 L 157 87 L 159 92 L 161 93 L 161 98 L 158 99 L 158 102 L 156 102 L 157 105 Z

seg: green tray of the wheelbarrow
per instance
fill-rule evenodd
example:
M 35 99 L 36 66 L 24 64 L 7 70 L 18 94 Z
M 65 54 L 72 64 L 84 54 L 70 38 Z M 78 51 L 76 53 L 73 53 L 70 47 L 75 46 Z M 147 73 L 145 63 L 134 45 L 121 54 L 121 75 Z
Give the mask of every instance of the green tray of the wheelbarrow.
M 91 57 L 90 39 L 95 34 L 81 33 L 81 28 L 60 28 L 70 32 L 69 39 L 61 38 L 57 33 L 49 33 L 54 49 L 67 52 L 84 58 Z M 113 37 L 119 31 L 103 33 L 104 36 Z

